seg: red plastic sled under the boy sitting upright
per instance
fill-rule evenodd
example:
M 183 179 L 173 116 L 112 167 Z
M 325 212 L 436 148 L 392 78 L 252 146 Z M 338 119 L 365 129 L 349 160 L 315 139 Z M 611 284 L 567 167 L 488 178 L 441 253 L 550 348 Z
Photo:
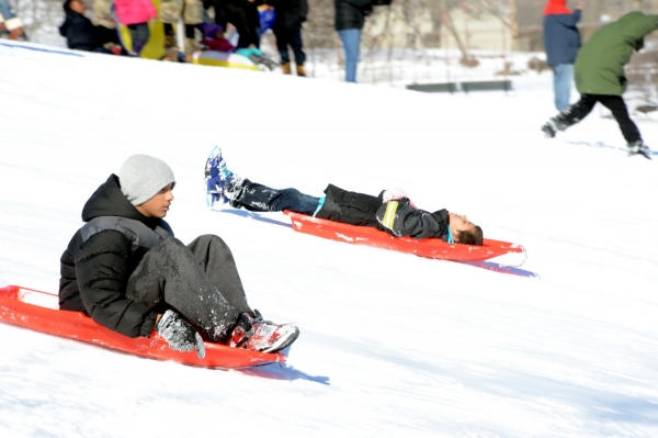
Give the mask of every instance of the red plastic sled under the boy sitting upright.
M 56 294 L 18 285 L 0 288 L 0 322 L 49 335 L 196 367 L 229 369 L 285 362 L 285 356 L 281 352 L 250 351 L 208 341 L 205 342 L 205 358 L 198 359 L 195 351 L 171 350 L 167 341 L 155 332 L 150 338 L 129 338 L 94 323 L 82 313 L 60 311 L 58 306 Z

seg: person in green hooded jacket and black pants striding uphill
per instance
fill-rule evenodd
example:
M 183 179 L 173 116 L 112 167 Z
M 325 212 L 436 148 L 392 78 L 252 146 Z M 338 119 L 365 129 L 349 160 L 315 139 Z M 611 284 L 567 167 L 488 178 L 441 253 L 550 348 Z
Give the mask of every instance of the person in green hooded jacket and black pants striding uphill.
M 644 37 L 658 30 L 658 15 L 629 12 L 616 22 L 598 30 L 580 48 L 575 64 L 576 88 L 580 100 L 552 117 L 542 131 L 555 137 L 557 131 L 580 122 L 597 102 L 612 111 L 628 144 L 628 154 L 651 158 L 651 149 L 644 143 L 637 125 L 631 120 L 622 94 L 626 90 L 624 66 L 633 50 L 644 47 Z

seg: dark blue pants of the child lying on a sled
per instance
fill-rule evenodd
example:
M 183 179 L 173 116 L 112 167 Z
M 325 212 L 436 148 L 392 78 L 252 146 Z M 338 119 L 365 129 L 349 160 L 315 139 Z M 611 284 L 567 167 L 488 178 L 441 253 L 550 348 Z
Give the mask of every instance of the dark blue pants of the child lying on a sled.
M 240 193 L 231 205 L 252 212 L 292 212 L 313 215 L 320 202 L 319 198 L 299 192 L 297 189 L 272 189 L 251 182 L 248 179 L 240 188 Z

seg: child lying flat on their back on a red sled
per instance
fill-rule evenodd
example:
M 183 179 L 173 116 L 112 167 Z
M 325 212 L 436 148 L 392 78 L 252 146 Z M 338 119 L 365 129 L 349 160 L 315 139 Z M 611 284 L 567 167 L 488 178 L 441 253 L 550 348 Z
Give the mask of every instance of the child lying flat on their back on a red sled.
M 378 196 L 349 192 L 329 184 L 325 196 L 315 198 L 297 189 L 272 189 L 228 170 L 222 149 L 215 147 L 205 168 L 207 204 L 229 204 L 254 212 L 290 210 L 350 225 L 371 226 L 396 237 L 440 238 L 451 244 L 483 245 L 483 229 L 465 215 L 418 209 L 399 190 L 385 190 Z

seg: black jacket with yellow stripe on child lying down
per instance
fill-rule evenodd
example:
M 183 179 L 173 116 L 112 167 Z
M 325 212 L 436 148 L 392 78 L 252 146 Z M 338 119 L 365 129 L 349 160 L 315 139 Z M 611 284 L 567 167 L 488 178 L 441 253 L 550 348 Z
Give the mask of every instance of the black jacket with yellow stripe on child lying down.
M 383 203 L 378 196 L 348 192 L 333 184 L 325 189 L 325 203 L 316 217 L 350 225 L 372 226 L 396 237 L 440 238 L 447 242 L 447 210 L 429 213 L 409 205 L 408 199 Z M 387 207 L 389 220 L 385 221 Z

